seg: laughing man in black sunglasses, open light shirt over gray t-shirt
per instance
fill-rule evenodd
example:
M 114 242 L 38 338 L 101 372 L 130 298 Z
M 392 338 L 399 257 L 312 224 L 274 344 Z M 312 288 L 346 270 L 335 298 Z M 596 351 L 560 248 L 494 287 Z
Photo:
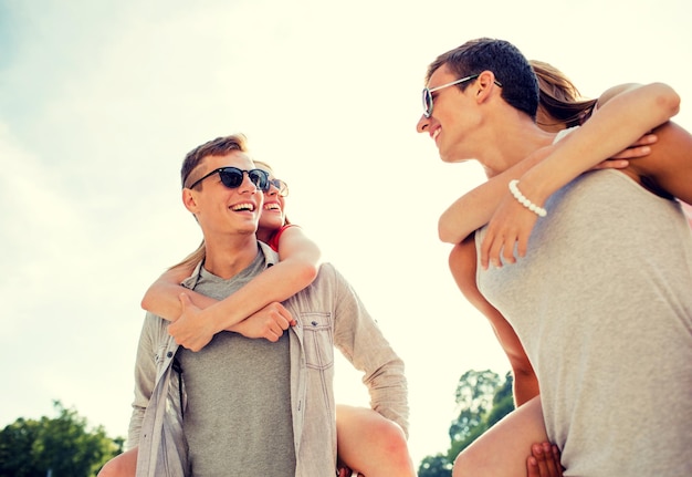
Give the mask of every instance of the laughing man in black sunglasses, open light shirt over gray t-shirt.
M 254 168 L 242 136 L 190 152 L 181 178 L 206 245 L 184 286 L 222 299 L 277 262 L 255 237 L 269 177 Z M 406 432 L 403 363 L 331 265 L 279 312 L 265 310 L 197 353 L 175 343 L 167 321 L 147 314 L 128 440 L 138 446 L 137 476 L 334 475 L 334 346 L 364 372 L 373 407 Z M 253 320 L 268 319 L 275 342 L 243 335 Z

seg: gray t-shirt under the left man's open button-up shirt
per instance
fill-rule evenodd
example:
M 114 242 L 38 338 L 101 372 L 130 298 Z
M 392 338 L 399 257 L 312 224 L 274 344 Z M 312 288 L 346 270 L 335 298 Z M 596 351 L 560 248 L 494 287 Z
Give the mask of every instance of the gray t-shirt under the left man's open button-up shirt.
M 221 300 L 262 270 L 261 251 L 230 280 L 202 268 L 195 290 Z M 193 476 L 294 476 L 287 333 L 272 343 L 221 332 L 197 353 L 181 348 L 177 359 Z

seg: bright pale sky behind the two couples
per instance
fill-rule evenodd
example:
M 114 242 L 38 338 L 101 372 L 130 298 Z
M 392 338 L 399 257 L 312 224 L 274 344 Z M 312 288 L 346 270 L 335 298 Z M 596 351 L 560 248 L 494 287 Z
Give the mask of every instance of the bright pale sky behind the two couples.
M 481 184 L 416 133 L 428 63 L 479 37 L 563 70 L 588 97 L 661 81 L 692 127 L 682 0 L 0 0 L 0 426 L 59 400 L 126 436 L 146 288 L 200 241 L 185 154 L 248 135 L 287 214 L 407 364 L 416 463 L 445 452 L 468 370 L 504 375 L 455 289 L 437 220 Z M 337 402 L 367 405 L 337 361 Z

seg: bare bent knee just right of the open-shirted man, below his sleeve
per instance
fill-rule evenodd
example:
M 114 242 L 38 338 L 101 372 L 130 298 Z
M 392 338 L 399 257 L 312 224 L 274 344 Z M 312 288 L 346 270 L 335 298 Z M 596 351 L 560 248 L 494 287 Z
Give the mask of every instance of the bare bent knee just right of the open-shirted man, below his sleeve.
M 401 427 L 373 409 L 336 406 L 339 458 L 365 477 L 415 477 Z

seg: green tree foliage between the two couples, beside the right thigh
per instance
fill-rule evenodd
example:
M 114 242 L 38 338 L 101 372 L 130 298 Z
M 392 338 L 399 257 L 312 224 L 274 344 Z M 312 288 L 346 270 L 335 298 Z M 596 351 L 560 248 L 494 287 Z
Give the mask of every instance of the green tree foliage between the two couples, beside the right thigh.
M 514 409 L 512 375 L 501 379 L 492 371 L 466 371 L 455 392 L 457 418 L 449 428 L 447 453 L 428 456 L 419 477 L 450 477 L 454 458 L 493 424 Z

